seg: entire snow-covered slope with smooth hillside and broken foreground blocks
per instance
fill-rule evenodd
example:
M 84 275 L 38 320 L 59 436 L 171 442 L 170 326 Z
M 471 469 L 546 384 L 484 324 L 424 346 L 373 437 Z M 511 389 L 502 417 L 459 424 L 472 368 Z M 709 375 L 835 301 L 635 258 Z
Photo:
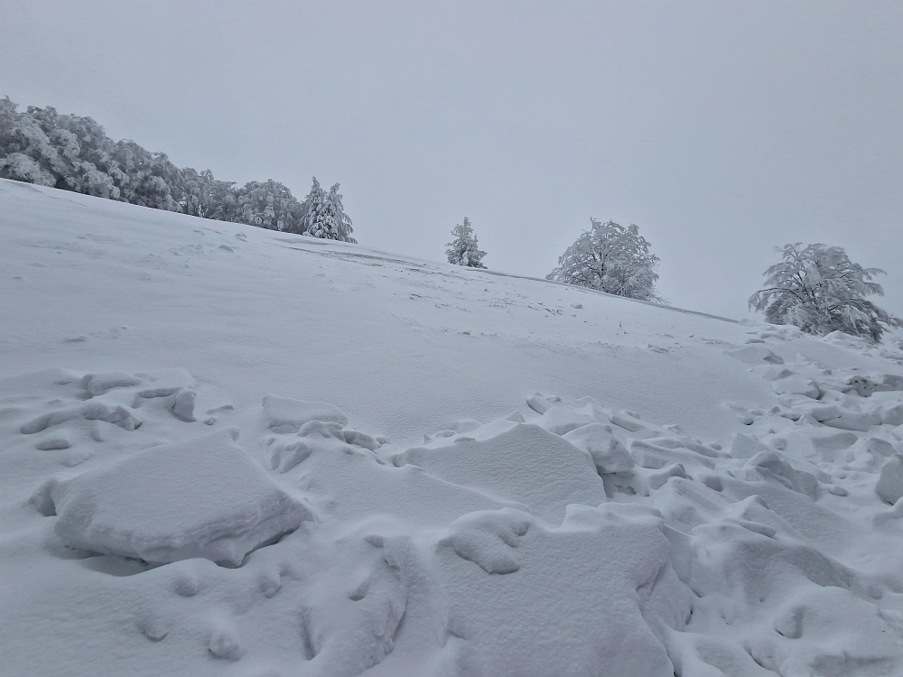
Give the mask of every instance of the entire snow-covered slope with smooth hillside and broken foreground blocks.
M 903 674 L 903 354 L 0 181 L 0 674 Z

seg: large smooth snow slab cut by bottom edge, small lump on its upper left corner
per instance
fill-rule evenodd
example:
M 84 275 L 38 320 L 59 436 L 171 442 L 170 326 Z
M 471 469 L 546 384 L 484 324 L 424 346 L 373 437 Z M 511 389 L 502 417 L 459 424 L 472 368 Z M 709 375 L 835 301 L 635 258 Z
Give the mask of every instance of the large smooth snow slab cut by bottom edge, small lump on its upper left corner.
M 683 629 L 692 593 L 668 560 L 661 517 L 615 503 L 568 505 L 554 528 L 516 515 L 465 515 L 452 533 L 467 538 L 436 550 L 437 586 L 447 600 L 437 607 L 455 637 L 449 674 L 673 677 L 653 628 L 671 620 Z M 477 520 L 483 524 L 474 528 Z M 473 563 L 492 568 L 509 564 L 506 557 L 516 572 Z

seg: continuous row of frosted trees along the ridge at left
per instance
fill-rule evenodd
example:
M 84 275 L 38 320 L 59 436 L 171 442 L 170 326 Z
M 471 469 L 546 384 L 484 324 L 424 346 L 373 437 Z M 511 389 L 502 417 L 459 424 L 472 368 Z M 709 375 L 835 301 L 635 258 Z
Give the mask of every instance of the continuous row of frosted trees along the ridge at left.
M 176 167 L 166 153 L 114 141 L 91 117 L 53 107 L 24 112 L 0 99 L 0 178 L 201 218 L 354 242 L 339 184 L 313 179 L 303 201 L 279 181 L 220 181 L 213 172 Z

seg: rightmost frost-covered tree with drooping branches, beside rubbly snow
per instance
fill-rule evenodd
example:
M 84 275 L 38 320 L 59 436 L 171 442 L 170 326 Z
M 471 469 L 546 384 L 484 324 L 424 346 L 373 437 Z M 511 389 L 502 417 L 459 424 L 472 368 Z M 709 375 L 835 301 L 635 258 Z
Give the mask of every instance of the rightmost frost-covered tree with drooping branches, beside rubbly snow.
M 841 330 L 880 341 L 885 329 L 903 322 L 881 310 L 866 296 L 883 296 L 870 280 L 880 268 L 854 264 L 839 246 L 802 242 L 776 247 L 781 260 L 765 271 L 765 289 L 749 297 L 749 307 L 764 311 L 772 324 L 792 324 L 810 334 Z

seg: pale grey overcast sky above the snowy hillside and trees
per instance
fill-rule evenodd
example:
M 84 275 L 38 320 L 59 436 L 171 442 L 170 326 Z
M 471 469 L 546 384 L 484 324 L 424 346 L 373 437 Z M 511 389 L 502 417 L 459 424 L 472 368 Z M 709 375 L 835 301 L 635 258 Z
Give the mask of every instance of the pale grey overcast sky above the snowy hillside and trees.
M 903 2 L 0 0 L 0 97 L 219 179 L 340 181 L 358 241 L 543 276 L 636 223 L 731 317 L 771 247 L 888 270 L 903 315 Z M 894 270 L 896 268 L 896 270 Z

